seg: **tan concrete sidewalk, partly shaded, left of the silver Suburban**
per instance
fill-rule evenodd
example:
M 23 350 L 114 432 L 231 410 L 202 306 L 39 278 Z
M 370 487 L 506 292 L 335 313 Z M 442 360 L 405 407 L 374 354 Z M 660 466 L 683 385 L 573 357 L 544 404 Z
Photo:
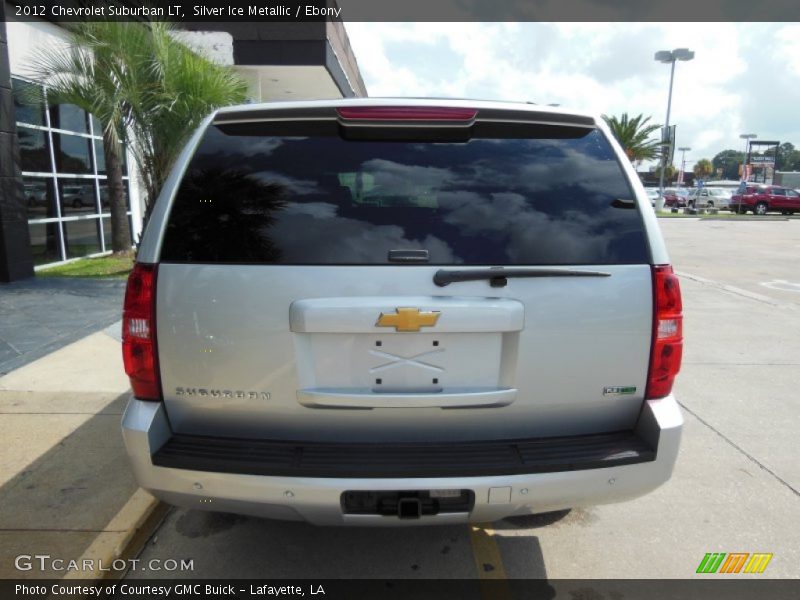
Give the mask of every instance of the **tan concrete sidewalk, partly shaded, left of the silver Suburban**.
M 19 555 L 124 556 L 158 506 L 128 467 L 120 418 L 129 393 L 119 323 L 0 377 L 0 578 L 87 577 L 20 571 Z

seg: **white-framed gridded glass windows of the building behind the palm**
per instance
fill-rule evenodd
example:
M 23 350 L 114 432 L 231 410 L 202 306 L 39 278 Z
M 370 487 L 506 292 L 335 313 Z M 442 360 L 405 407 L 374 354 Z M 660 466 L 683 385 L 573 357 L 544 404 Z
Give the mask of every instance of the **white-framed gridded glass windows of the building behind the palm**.
M 111 250 L 102 125 L 77 106 L 49 105 L 38 84 L 11 82 L 34 264 Z M 127 169 L 123 184 L 130 223 Z

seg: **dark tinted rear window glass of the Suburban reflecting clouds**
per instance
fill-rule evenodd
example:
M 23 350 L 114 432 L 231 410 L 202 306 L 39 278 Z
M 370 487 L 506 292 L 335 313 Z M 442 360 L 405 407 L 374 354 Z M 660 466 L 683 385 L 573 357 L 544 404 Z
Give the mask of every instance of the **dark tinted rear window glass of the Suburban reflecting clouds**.
M 211 126 L 161 260 L 375 265 L 426 250 L 431 265 L 648 262 L 633 192 L 596 130 L 389 141 L 313 127 Z

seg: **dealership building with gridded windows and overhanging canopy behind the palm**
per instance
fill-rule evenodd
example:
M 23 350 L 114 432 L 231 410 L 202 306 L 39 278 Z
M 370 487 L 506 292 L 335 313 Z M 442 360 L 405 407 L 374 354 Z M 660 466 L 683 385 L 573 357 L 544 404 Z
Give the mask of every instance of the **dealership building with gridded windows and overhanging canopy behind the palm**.
M 110 251 L 111 215 L 99 122 L 72 105 L 22 103 L 39 86 L 27 71 L 31 53 L 63 44 L 52 22 L 18 21 L 0 3 L 0 282 L 36 267 Z M 253 102 L 366 96 L 344 25 L 186 23 L 179 36 L 248 83 Z M 41 87 L 41 86 L 39 86 Z M 144 194 L 126 158 L 124 184 L 133 239 Z

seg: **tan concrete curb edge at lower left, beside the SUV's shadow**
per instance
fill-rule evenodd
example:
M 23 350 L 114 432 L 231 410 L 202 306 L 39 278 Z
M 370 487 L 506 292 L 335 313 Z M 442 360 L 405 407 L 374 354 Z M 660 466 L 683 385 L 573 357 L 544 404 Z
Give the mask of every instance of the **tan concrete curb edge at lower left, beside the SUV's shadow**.
M 70 571 L 64 580 L 122 579 L 128 572 L 127 561 L 141 552 L 169 512 L 169 505 L 139 488 L 78 559 L 78 564 L 97 566 L 94 569 Z M 125 561 L 121 569 L 115 561 Z

